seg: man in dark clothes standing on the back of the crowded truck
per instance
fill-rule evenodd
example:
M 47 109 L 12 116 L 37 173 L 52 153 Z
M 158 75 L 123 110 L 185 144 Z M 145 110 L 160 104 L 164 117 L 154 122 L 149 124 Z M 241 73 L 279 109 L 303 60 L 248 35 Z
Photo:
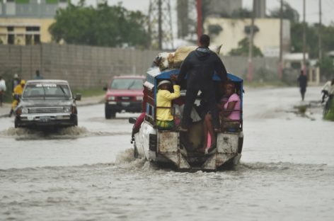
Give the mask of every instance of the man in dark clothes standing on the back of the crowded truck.
M 218 110 L 212 77 L 214 72 L 216 72 L 221 79 L 221 82 L 225 83 L 227 80 L 227 72 L 219 56 L 209 50 L 209 44 L 209 35 L 200 36 L 200 47 L 197 47 L 196 50 L 190 52 L 180 67 L 180 74 L 178 74 L 179 84 L 180 81 L 185 79 L 185 75 L 188 74 L 185 107 L 183 109 L 182 123 L 179 128 L 179 130 L 183 132 L 188 131 L 190 112 L 198 91 L 202 91 L 204 98 L 207 101 L 208 110 L 212 113 L 214 131 L 219 131 Z

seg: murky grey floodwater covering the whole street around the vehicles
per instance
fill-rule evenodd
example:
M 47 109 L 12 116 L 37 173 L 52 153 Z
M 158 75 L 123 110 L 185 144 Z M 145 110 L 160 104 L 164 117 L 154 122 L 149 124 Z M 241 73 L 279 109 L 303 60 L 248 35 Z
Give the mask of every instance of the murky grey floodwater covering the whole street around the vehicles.
M 333 220 L 334 123 L 320 88 L 249 89 L 243 156 L 229 171 L 159 169 L 132 157 L 129 116 L 79 108 L 79 128 L 0 118 L 0 220 Z M 306 115 L 296 108 L 311 103 Z

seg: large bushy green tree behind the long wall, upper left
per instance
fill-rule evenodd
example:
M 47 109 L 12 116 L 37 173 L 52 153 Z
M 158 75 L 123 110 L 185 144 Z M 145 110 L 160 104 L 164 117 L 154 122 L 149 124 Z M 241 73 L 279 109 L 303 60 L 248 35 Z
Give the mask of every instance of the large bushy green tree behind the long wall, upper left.
M 60 8 L 55 19 L 49 31 L 56 42 L 109 47 L 149 45 L 146 16 L 139 11 L 127 11 L 121 4 L 99 4 L 93 8 L 80 1 L 78 6 Z

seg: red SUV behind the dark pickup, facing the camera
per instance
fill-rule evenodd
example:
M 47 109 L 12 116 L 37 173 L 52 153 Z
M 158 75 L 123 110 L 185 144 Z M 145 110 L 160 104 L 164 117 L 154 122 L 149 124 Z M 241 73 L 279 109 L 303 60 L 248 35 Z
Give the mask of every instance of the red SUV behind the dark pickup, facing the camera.
M 124 75 L 114 77 L 105 87 L 105 118 L 115 118 L 117 112 L 142 112 L 145 77 Z

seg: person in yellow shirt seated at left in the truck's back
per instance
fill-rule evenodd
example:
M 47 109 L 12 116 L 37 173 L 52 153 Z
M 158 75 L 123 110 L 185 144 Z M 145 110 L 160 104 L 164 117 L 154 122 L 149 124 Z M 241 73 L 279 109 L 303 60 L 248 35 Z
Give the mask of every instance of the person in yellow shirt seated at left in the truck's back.
M 180 96 L 180 86 L 173 81 L 174 93 L 171 93 L 171 81 L 163 80 L 158 84 L 158 93 L 156 94 L 156 125 L 160 130 L 171 130 L 175 128 L 174 118 L 171 114 L 172 102 Z

